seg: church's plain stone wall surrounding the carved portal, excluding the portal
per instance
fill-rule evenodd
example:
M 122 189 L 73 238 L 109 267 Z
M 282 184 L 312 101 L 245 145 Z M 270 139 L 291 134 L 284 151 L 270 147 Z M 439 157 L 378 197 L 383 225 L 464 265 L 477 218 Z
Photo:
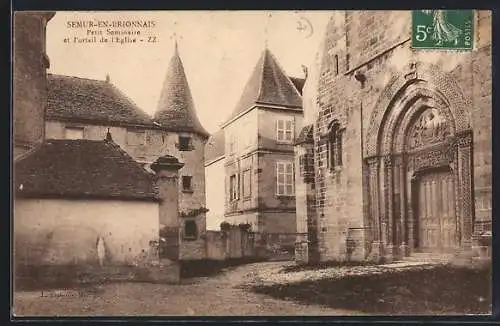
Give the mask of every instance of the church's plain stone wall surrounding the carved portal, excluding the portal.
M 357 257 L 366 257 L 370 251 L 370 232 L 359 231 L 370 227 L 363 163 L 367 132 L 384 90 L 395 78 L 407 74 L 413 62 L 417 67 L 435 67 L 436 74 L 458 86 L 464 101 L 470 99 L 466 114 L 474 133 L 475 215 L 477 221 L 491 221 L 491 14 L 476 13 L 476 49 L 472 52 L 411 49 L 410 11 L 333 15 L 320 54 L 319 116 L 315 124 L 315 208 L 322 260 L 347 259 L 348 243 L 352 244 L 347 240 L 353 234 L 362 246 Z M 357 73 L 364 75 L 363 84 L 356 79 Z M 327 144 L 321 139 L 334 119 L 345 132 L 343 165 L 331 171 L 327 168 Z

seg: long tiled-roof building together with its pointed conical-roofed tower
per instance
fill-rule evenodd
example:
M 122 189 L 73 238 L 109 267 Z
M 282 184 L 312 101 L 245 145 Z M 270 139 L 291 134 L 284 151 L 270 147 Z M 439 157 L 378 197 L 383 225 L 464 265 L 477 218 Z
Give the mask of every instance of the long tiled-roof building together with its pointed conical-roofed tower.
M 196 115 L 177 44 L 153 117 L 114 86 L 109 76 L 94 80 L 48 75 L 47 139 L 102 140 L 108 130 L 146 169 L 166 154 L 184 164 L 178 180 L 181 259 L 205 258 L 203 158 L 208 133 Z

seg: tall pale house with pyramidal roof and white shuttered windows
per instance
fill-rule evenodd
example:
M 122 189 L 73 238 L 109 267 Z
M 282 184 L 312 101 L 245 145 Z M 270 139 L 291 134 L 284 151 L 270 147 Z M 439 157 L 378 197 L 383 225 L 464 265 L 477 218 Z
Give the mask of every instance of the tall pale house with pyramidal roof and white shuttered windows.
M 209 208 L 217 207 L 210 215 L 214 221 L 207 223 L 211 227 L 220 221 L 249 223 L 257 241 L 293 248 L 293 143 L 302 128 L 303 84 L 304 79 L 285 73 L 267 47 L 263 50 L 232 114 L 206 145 L 207 174 L 218 176 L 207 179 L 207 189 L 213 190 Z

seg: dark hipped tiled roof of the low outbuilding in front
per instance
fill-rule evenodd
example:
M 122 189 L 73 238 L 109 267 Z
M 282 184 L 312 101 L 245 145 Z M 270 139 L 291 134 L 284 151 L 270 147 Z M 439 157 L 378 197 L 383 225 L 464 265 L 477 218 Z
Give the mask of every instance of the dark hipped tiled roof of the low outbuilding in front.
M 14 178 L 18 196 L 157 198 L 154 175 L 108 140 L 47 140 L 15 163 Z

